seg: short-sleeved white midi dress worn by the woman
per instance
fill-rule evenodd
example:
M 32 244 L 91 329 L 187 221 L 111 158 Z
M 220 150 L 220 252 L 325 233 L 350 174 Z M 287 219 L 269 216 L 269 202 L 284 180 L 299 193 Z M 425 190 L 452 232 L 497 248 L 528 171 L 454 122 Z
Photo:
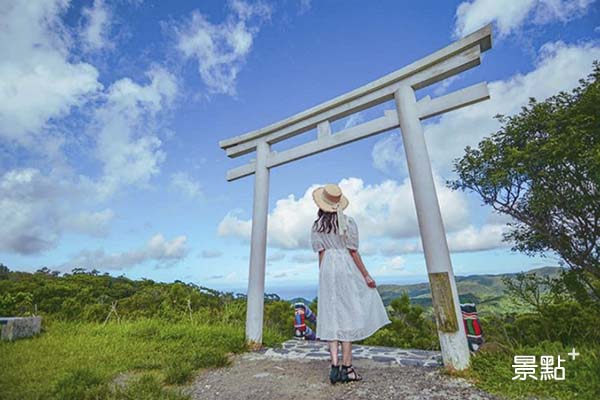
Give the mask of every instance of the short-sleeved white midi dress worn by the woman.
M 348 249 L 358 250 L 358 228 L 346 217 L 345 235 L 311 232 L 315 252 L 325 250 L 319 267 L 317 337 L 362 340 L 391 323 L 376 288 L 367 286 Z

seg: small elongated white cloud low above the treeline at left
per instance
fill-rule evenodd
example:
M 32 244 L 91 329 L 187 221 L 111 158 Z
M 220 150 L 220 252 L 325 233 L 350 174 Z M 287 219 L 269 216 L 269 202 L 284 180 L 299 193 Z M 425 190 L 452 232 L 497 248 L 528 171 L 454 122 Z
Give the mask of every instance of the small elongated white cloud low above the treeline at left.
M 121 253 L 106 254 L 103 249 L 83 250 L 69 262 L 58 266 L 70 271 L 75 267 L 103 270 L 124 270 L 144 262 L 155 262 L 157 267 L 169 267 L 185 258 L 188 253 L 187 238 L 177 236 L 171 240 L 161 234 L 153 236 L 143 247 Z

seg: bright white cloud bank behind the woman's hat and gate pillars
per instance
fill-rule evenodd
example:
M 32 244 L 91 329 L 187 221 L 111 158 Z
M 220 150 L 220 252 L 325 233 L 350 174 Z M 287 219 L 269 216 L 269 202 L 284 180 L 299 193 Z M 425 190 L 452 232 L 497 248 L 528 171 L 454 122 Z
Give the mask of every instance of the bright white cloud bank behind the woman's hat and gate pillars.
M 444 225 L 448 231 L 467 226 L 465 195 L 454 192 L 435 180 Z M 350 199 L 346 213 L 354 217 L 361 240 L 372 237 L 409 238 L 418 235 L 418 224 L 410 182 L 401 184 L 387 180 L 377 185 L 365 185 L 361 179 L 348 178 L 339 182 Z M 283 249 L 308 248 L 310 227 L 316 218 L 316 206 L 309 187 L 304 195 L 279 199 L 269 214 L 268 243 Z M 220 236 L 250 238 L 251 221 L 239 218 L 239 212 L 229 212 L 218 228 Z

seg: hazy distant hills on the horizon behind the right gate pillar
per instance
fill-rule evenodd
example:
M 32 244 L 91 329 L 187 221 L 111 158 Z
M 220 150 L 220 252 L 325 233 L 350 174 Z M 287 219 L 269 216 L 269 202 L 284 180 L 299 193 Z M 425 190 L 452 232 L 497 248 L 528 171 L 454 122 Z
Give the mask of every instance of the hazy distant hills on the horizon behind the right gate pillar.
M 560 267 L 542 267 L 527 271 L 527 274 L 538 274 L 542 276 L 556 276 L 561 270 Z M 504 277 L 515 277 L 516 273 L 511 274 L 486 274 L 486 275 L 468 275 L 456 276 L 456 286 L 461 303 L 475 303 L 478 311 L 503 312 L 514 309 L 514 305 L 506 298 L 504 294 L 505 285 L 502 282 Z M 383 303 L 387 306 L 393 299 L 402 295 L 406 291 L 412 304 L 419 304 L 423 307 L 431 307 L 431 291 L 429 283 L 416 283 L 411 285 L 378 285 L 379 294 Z

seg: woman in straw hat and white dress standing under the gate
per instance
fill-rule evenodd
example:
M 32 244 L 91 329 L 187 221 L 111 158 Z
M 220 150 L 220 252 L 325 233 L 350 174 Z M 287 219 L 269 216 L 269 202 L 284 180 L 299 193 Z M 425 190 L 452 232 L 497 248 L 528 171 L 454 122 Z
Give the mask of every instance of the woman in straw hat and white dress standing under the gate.
M 331 383 L 359 381 L 362 377 L 352 367 L 352 341 L 365 339 L 392 321 L 360 258 L 356 222 L 342 212 L 348 199 L 334 184 L 313 191 L 313 199 L 319 207 L 311 231 L 312 248 L 319 253 L 317 337 L 329 341 Z

